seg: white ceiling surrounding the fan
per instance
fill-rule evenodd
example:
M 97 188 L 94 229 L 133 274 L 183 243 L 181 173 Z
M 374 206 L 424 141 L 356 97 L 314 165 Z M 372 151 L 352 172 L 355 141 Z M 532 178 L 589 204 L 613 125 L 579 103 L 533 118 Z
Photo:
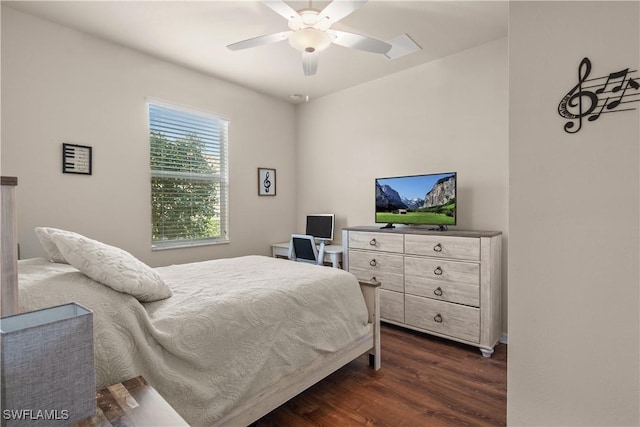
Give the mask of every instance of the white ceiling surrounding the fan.
M 298 10 L 308 1 L 287 1 Z M 311 99 L 507 35 L 507 1 L 369 1 L 334 29 L 391 40 L 407 33 L 422 50 L 395 60 L 332 45 L 305 77 L 287 41 L 232 52 L 236 41 L 285 31 L 259 1 L 17 1 L 14 9 L 289 101 Z M 322 9 L 328 1 L 313 1 Z M 469 70 L 473 72 L 473 70 Z

